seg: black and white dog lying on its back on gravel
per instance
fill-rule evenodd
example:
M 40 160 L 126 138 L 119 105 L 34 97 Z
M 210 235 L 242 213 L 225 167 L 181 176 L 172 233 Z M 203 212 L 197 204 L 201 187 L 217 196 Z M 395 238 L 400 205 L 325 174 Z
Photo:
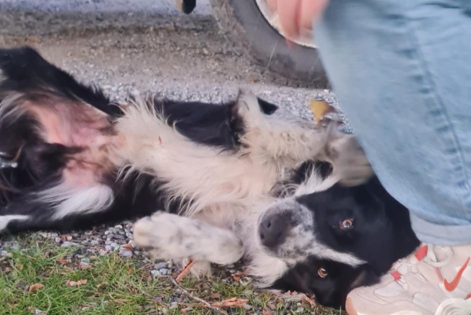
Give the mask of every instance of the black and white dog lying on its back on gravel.
M 355 139 L 241 92 L 226 104 L 131 98 L 35 50 L 0 50 L 0 231 L 141 218 L 136 243 L 192 271 L 241 258 L 263 288 L 339 307 L 418 241 Z

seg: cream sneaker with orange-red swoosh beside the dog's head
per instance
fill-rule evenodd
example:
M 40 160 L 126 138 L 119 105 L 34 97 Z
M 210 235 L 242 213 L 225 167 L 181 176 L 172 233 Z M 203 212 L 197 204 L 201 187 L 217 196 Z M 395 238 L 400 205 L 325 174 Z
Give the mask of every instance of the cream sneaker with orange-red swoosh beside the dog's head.
M 349 315 L 471 315 L 471 245 L 422 244 L 380 283 L 350 292 Z

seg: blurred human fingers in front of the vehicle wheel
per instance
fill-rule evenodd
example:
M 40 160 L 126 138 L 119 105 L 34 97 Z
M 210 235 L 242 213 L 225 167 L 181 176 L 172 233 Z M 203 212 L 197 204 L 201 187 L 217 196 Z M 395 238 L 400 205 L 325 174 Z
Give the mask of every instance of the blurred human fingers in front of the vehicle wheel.
M 303 30 L 310 30 L 329 0 L 266 0 L 269 9 L 277 12 L 281 30 L 289 38 L 296 38 Z

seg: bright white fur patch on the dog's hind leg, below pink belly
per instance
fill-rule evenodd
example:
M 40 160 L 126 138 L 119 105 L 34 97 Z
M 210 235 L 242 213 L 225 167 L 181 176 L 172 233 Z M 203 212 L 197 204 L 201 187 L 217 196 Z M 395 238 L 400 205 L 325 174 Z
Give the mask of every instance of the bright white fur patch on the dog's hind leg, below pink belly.
M 38 201 L 54 204 L 51 219 L 58 220 L 72 214 L 100 212 L 111 206 L 113 190 L 106 185 L 85 189 L 70 189 L 59 185 L 39 193 Z

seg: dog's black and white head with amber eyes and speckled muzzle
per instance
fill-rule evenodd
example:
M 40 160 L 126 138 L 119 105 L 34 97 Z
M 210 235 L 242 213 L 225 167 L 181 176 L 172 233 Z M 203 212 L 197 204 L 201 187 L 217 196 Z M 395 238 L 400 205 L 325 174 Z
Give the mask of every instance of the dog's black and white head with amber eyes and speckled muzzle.
M 264 251 L 288 266 L 275 289 L 311 293 L 333 307 L 418 245 L 407 209 L 375 177 L 281 200 L 260 216 L 258 235 Z

